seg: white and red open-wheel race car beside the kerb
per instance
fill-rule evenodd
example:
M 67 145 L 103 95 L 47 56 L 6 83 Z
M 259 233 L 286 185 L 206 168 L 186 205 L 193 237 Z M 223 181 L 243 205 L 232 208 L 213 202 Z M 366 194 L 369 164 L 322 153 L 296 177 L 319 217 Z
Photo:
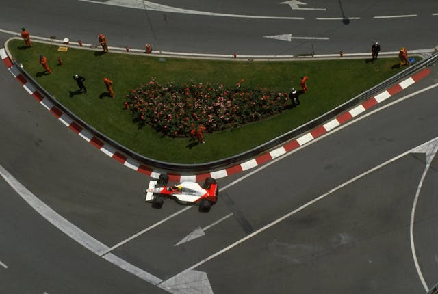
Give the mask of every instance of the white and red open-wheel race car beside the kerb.
M 214 178 L 206 178 L 202 187 L 196 182 L 168 185 L 168 181 L 167 174 L 160 174 L 157 181 L 149 181 L 145 201 L 159 209 L 165 198 L 173 198 L 181 204 L 198 205 L 199 211 L 209 211 L 218 201 L 219 189 Z

